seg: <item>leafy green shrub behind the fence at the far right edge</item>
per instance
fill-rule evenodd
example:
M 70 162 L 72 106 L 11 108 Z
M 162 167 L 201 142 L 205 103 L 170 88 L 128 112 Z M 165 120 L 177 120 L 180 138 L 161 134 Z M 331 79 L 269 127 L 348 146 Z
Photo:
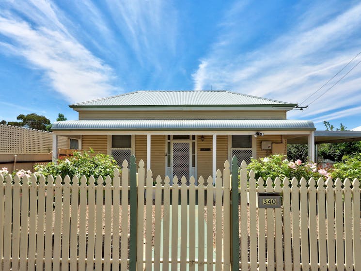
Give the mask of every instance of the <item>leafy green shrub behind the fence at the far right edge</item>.
M 354 178 L 361 179 L 361 153 L 355 156 L 344 156 L 341 162 L 333 164 L 330 173 L 333 179 L 344 180 L 349 178 L 352 182 Z

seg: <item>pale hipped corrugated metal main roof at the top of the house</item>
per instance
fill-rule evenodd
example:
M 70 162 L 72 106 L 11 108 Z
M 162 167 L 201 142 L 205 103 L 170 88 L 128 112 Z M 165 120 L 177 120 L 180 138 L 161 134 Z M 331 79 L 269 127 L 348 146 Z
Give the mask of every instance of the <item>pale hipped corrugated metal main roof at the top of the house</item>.
M 137 91 L 103 99 L 72 104 L 70 107 L 127 106 L 295 106 L 295 104 L 229 91 Z

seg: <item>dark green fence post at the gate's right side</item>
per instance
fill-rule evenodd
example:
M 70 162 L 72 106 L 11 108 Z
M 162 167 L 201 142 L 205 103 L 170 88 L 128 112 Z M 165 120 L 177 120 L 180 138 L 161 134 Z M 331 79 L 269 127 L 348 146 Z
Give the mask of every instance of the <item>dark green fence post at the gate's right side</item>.
M 238 271 L 239 258 L 239 218 L 238 218 L 238 160 L 237 157 L 232 158 L 232 191 L 231 191 L 231 243 L 232 243 L 232 271 Z

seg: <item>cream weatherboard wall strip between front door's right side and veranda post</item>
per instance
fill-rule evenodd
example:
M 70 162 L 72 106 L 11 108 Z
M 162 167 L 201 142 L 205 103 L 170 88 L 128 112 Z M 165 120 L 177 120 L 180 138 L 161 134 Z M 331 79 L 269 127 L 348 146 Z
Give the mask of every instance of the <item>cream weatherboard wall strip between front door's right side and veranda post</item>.
M 204 135 L 204 141 L 201 137 L 202 135 L 197 136 L 197 179 L 199 176 L 204 176 L 206 179 L 212 175 L 212 135 Z M 201 148 L 210 148 L 211 151 L 201 151 Z

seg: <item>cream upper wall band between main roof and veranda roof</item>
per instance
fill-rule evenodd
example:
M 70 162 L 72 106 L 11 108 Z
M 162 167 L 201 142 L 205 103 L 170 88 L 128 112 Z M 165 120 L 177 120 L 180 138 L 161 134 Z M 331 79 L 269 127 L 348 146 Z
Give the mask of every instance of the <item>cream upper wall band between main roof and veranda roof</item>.
M 286 111 L 84 111 L 79 120 L 118 119 L 286 119 Z

